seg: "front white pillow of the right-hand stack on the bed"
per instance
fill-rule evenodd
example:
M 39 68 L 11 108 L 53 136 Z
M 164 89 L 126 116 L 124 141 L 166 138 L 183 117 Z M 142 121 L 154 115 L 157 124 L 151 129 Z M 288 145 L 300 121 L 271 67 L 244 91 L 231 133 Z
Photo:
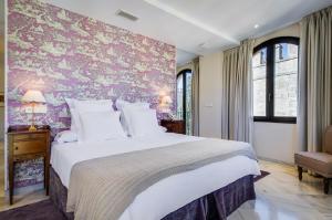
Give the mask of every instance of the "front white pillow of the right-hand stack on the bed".
M 126 107 L 124 109 L 126 111 Z M 132 137 L 162 133 L 155 109 L 136 109 L 126 113 L 129 118 L 129 135 Z

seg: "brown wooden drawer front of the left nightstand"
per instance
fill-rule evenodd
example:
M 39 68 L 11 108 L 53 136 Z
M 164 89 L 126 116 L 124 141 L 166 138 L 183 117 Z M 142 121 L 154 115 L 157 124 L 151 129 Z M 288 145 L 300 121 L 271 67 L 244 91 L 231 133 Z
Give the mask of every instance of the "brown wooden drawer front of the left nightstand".
M 46 143 L 43 139 L 13 143 L 13 155 L 44 153 Z

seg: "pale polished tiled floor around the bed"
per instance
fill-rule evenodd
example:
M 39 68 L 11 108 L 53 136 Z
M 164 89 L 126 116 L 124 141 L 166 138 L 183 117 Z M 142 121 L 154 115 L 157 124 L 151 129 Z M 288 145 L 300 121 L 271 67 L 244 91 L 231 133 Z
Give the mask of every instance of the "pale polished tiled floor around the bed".
M 332 220 L 332 188 L 329 196 L 323 195 L 322 179 L 304 174 L 300 182 L 292 166 L 270 161 L 260 166 L 271 175 L 256 184 L 257 200 L 242 205 L 229 220 Z M 12 207 L 46 198 L 43 190 L 17 196 Z M 0 197 L 0 210 L 12 207 Z

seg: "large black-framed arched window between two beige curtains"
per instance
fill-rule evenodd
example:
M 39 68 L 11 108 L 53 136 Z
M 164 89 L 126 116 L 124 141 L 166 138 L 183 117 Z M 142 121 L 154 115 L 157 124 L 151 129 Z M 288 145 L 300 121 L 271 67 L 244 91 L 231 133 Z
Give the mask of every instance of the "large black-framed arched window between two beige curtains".
M 298 70 L 298 38 L 277 38 L 255 48 L 252 86 L 256 122 L 297 122 Z

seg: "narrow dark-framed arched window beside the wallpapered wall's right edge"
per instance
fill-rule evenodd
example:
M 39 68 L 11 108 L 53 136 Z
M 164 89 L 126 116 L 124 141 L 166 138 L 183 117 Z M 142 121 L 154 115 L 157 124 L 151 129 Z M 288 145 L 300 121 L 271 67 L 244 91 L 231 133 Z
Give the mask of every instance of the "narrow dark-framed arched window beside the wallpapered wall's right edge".
M 178 118 L 185 122 L 186 134 L 191 135 L 193 117 L 191 117 L 191 77 L 190 70 L 184 70 L 177 75 L 176 95 L 177 95 L 177 111 Z

